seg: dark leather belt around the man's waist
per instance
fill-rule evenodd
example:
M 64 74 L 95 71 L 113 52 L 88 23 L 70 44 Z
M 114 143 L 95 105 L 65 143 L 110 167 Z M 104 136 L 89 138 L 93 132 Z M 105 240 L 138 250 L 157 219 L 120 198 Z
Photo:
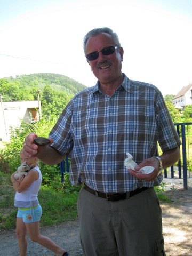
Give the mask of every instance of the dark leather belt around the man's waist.
M 99 196 L 107 199 L 108 201 L 113 201 L 113 202 L 130 198 L 148 189 L 147 187 L 142 187 L 126 193 L 102 193 L 102 192 L 94 191 L 93 189 L 88 187 L 85 183 L 83 183 L 83 188 L 95 196 Z

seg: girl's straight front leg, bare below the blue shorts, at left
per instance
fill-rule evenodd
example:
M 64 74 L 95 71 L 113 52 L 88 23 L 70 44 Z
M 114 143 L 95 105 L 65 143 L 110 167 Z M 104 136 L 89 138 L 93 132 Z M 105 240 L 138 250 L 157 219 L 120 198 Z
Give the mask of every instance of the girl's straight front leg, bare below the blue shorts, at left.
M 18 238 L 19 256 L 27 255 L 27 229 L 22 218 L 17 218 L 16 221 L 16 235 Z

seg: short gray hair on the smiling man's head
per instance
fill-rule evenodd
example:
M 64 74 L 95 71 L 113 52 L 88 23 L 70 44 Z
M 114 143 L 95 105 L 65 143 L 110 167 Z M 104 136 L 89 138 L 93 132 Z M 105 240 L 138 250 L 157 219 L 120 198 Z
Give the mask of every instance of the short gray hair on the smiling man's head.
M 99 34 L 101 34 L 101 33 L 107 33 L 107 34 L 109 34 L 109 35 L 113 38 L 115 45 L 121 46 L 117 34 L 116 34 L 112 29 L 107 28 L 107 27 L 106 27 L 106 28 L 94 28 L 94 29 L 92 29 L 91 31 L 89 31 L 89 32 L 86 34 L 86 36 L 84 37 L 84 39 L 83 39 L 83 49 L 84 49 L 84 53 L 85 53 L 85 47 L 86 47 L 86 43 L 87 43 L 88 39 L 89 39 L 90 37 L 97 36 L 97 35 L 99 35 Z M 86 54 L 86 53 L 85 53 L 85 54 Z

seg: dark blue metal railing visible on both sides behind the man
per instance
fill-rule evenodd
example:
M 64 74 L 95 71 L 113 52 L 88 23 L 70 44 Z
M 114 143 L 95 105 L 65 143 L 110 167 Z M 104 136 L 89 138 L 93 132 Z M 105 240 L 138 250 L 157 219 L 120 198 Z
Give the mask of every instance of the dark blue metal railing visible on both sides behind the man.
M 181 159 L 178 161 L 178 167 L 171 166 L 170 169 L 170 177 L 169 176 L 169 170 L 164 169 L 164 178 L 170 178 L 174 179 L 174 172 L 175 168 L 178 168 L 178 179 L 183 179 L 183 188 L 188 189 L 188 177 L 187 177 L 187 151 L 186 151 L 186 126 L 192 125 L 192 123 L 175 123 L 178 135 L 180 137 L 181 133 L 181 141 L 182 141 L 182 166 L 181 166 Z M 69 172 L 69 161 L 68 157 L 65 158 L 60 163 L 60 173 L 61 173 L 61 182 L 64 181 L 64 173 Z

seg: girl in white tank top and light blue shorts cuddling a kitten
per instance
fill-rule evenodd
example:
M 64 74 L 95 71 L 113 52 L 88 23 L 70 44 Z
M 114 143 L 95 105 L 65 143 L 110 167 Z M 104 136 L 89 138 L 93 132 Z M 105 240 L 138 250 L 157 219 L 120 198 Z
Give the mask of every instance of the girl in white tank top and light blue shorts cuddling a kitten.
M 16 190 L 14 206 L 18 207 L 16 234 L 18 238 L 19 255 L 27 255 L 26 234 L 28 232 L 32 241 L 53 251 L 55 256 L 68 256 L 68 253 L 63 248 L 55 244 L 50 238 L 40 234 L 39 221 L 42 215 L 42 207 L 39 205 L 37 196 L 41 187 L 42 174 L 38 167 L 38 158 L 26 158 L 21 150 L 20 159 L 21 164 L 26 162 L 28 165 L 33 165 L 34 167 L 28 171 L 28 175 L 23 175 L 20 179 L 14 178 L 15 172 L 11 175 L 11 181 Z

